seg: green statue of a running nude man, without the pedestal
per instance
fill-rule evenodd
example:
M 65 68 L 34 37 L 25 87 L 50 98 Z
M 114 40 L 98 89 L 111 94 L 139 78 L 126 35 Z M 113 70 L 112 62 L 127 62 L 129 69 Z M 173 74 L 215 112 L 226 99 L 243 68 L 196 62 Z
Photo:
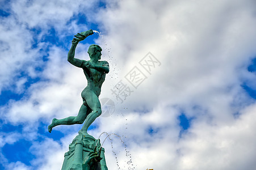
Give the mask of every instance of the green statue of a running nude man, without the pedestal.
M 98 97 L 100 95 L 100 90 L 102 83 L 105 80 L 105 76 L 110 71 L 107 61 L 99 61 L 100 56 L 102 56 L 102 48 L 100 48 L 99 45 L 90 45 L 88 49 L 90 57 L 89 61 L 74 58 L 75 48 L 78 42 L 84 40 L 89 35 L 93 35 L 93 30 L 90 29 L 89 31 L 75 35 L 68 53 L 68 61 L 72 63 L 72 65 L 82 68 L 87 79 L 87 86 L 81 94 L 83 104 L 77 116 L 70 116 L 60 120 L 53 118 L 52 124 L 48 126 L 48 131 L 50 133 L 54 126 L 82 124 L 84 121 L 85 124 L 81 131 L 87 133 L 89 126 L 102 113 Z

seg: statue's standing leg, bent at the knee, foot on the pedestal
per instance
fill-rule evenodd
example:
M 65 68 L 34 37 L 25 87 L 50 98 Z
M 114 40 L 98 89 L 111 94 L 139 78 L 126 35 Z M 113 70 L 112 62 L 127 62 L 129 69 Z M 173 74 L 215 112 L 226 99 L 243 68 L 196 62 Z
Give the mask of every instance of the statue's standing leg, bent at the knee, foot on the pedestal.
M 83 128 L 81 131 L 87 132 L 89 126 L 93 123 L 93 121 L 100 116 L 102 113 L 102 109 L 100 107 L 100 102 L 98 96 L 95 95 L 94 92 L 90 91 L 86 93 L 86 96 L 90 95 L 90 97 L 86 97 L 86 103 L 91 108 L 93 112 L 91 112 L 85 120 L 85 124 L 83 124 Z

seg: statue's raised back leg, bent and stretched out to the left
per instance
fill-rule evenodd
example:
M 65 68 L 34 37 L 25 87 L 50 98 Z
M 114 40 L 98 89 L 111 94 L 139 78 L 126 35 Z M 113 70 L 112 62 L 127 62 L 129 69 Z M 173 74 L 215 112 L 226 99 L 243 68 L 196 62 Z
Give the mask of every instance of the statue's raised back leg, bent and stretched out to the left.
M 70 116 L 70 117 L 62 118 L 60 120 L 57 120 L 57 118 L 53 118 L 52 124 L 48 126 L 48 131 L 49 133 L 51 133 L 52 128 L 58 125 L 82 124 L 90 112 L 91 112 L 91 109 L 88 108 L 86 105 L 82 104 L 77 116 Z

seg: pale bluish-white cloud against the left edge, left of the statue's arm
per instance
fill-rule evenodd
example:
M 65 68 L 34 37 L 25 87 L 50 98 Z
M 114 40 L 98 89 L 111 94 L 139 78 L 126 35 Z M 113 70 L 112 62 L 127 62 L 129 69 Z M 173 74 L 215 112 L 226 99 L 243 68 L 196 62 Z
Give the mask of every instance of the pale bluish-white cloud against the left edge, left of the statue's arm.
M 24 66 L 33 64 L 36 67 L 39 64 L 35 62 L 38 49 L 31 49 L 32 35 L 30 31 L 24 25 L 19 24 L 12 16 L 1 19 L 1 23 L 0 89 L 4 88 L 6 90 L 8 86 L 16 84 L 14 78 L 21 76 L 20 71 L 26 73 Z M 23 86 L 24 81 L 17 80 L 17 82 L 16 91 L 20 92 L 20 87 Z

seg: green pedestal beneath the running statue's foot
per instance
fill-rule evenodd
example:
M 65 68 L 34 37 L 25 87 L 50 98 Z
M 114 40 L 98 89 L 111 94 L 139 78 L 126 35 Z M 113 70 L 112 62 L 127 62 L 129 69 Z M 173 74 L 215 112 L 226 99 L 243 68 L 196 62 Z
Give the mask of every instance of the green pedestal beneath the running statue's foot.
M 82 163 L 83 159 L 89 154 L 89 152 L 100 150 L 100 141 L 95 139 L 93 136 L 79 131 L 79 134 L 73 139 L 73 142 L 69 145 L 69 151 L 64 155 L 64 162 L 61 170 L 83 170 Z M 102 170 L 107 170 L 104 148 L 100 152 L 100 165 Z

